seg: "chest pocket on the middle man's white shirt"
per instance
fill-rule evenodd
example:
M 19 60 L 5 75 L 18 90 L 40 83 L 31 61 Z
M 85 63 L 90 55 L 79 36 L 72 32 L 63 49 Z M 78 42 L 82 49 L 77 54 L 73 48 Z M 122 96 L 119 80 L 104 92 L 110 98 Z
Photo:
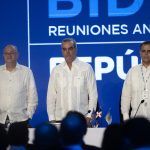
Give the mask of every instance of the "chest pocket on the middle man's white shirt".
M 74 78 L 74 86 L 75 87 L 84 87 L 86 86 L 85 78 L 82 76 L 76 76 Z

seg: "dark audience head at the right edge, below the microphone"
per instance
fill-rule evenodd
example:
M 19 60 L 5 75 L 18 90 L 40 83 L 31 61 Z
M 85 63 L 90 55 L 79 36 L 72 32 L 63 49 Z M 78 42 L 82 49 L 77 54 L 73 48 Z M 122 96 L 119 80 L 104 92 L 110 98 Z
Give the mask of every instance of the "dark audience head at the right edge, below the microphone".
M 136 148 L 150 149 L 150 122 L 143 117 L 132 118 L 123 124 L 123 134 L 127 143 Z

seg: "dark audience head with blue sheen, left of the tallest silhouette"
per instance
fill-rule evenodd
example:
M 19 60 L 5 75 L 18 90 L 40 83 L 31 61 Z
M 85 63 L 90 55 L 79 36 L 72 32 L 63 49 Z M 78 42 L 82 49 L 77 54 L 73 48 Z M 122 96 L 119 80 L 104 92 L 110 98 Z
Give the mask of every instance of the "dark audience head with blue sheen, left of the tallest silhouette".
M 53 124 L 42 123 L 35 129 L 34 145 L 36 150 L 60 149 L 59 133 Z

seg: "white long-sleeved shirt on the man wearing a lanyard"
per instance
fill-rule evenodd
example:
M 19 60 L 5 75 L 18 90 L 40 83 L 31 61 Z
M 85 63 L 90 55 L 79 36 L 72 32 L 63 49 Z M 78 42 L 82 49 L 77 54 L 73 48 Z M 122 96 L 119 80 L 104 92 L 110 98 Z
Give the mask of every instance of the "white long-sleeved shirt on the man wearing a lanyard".
M 144 89 L 148 93 L 146 98 L 143 96 Z M 142 100 L 144 103 L 141 103 Z M 150 66 L 145 68 L 140 64 L 131 68 L 127 73 L 121 96 L 121 111 L 124 120 L 130 118 L 130 106 L 132 108 L 131 117 L 135 116 L 138 109 L 136 116 L 150 119 Z

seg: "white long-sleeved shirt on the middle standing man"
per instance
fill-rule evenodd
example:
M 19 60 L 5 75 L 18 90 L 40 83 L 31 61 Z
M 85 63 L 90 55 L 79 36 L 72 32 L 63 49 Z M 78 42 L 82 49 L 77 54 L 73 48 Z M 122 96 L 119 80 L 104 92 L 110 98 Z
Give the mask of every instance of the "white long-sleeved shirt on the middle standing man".
M 82 114 L 87 114 L 88 110 L 92 112 L 96 109 L 97 99 L 95 75 L 90 64 L 76 58 L 71 70 L 66 62 L 53 69 L 47 92 L 49 120 L 62 120 L 69 110 Z

